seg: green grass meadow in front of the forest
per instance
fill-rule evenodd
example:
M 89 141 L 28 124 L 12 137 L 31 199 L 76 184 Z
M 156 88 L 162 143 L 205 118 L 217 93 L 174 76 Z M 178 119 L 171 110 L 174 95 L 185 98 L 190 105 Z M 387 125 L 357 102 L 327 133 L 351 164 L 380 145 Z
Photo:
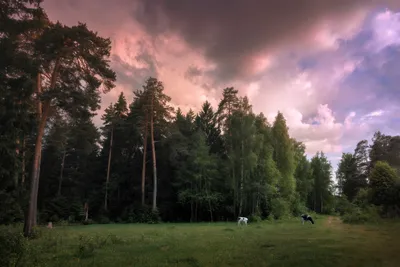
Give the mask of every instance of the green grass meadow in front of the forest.
M 320 218 L 249 224 L 110 224 L 44 230 L 43 266 L 399 266 L 400 224 Z M 44 265 L 46 263 L 46 265 Z

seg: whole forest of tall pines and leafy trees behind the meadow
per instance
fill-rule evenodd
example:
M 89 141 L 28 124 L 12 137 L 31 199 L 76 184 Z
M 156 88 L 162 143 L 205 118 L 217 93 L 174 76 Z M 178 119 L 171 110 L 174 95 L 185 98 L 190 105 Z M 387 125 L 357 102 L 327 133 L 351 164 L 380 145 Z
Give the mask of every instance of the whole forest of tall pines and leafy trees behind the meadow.
M 234 87 L 217 107 L 172 108 L 148 77 L 133 99 L 115 89 L 111 40 L 48 19 L 40 0 L 0 2 L 0 224 L 282 219 L 400 215 L 400 136 L 379 131 L 343 153 L 336 182 L 323 151 L 307 158 Z M 190 90 L 190 88 L 188 89 Z

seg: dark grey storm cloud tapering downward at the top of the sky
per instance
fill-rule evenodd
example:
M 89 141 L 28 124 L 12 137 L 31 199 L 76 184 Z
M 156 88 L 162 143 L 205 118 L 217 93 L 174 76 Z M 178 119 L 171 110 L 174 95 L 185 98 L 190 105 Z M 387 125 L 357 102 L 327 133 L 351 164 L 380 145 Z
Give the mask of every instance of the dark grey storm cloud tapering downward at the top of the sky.
M 398 0 L 137 0 L 135 19 L 153 35 L 170 31 L 204 49 L 219 79 L 245 78 L 262 51 L 312 38 L 323 19 L 343 22 L 360 8 Z M 267 50 L 265 50 L 267 49 Z

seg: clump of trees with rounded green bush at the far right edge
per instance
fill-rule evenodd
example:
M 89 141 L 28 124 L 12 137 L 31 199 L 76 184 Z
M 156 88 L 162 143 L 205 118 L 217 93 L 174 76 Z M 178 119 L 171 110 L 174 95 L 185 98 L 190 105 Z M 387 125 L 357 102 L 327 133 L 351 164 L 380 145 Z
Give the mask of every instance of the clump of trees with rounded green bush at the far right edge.
M 376 132 L 343 153 L 336 177 L 337 211 L 345 221 L 364 222 L 400 215 L 400 136 Z

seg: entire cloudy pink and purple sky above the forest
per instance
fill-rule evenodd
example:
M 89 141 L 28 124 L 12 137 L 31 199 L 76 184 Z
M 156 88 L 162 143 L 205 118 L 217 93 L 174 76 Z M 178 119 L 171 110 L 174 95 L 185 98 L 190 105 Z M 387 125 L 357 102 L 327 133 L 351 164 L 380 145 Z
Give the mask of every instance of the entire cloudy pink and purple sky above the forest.
M 198 111 L 225 87 L 270 123 L 281 111 L 307 155 L 334 169 L 375 131 L 400 134 L 398 0 L 45 0 L 50 19 L 112 40 L 120 92 L 153 76 L 172 104 Z

